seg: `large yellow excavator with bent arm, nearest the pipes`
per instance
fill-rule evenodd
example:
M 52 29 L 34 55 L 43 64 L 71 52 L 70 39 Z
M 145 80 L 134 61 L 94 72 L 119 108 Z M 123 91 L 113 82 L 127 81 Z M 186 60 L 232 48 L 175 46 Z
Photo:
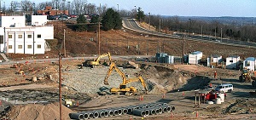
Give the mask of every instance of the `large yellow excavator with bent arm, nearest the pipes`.
M 111 94 L 125 94 L 125 95 L 131 95 L 131 94 L 138 94 L 138 91 L 135 87 L 126 87 L 127 83 L 133 83 L 140 81 L 143 85 L 143 88 L 145 89 L 145 93 L 148 93 L 147 86 L 145 84 L 145 81 L 143 80 L 143 77 L 141 75 L 138 75 L 138 77 L 132 77 L 132 78 L 127 78 L 125 73 L 119 69 L 118 66 L 114 62 L 111 62 L 111 65 L 108 69 L 108 73 L 104 79 L 104 84 L 109 85 L 108 83 L 108 77 L 111 75 L 111 72 L 115 70 L 119 73 L 120 77 L 123 79 L 123 83 L 119 85 L 119 88 L 112 88 L 110 89 Z

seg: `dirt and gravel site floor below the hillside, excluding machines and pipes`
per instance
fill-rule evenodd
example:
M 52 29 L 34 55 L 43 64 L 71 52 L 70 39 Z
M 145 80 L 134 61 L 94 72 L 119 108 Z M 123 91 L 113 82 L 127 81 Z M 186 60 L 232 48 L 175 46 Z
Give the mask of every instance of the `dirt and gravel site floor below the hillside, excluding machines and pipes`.
M 195 65 L 167 65 L 153 62 L 114 60 L 119 69 L 129 77 L 140 74 L 148 87 L 148 94 L 124 95 L 109 94 L 110 88 L 117 88 L 122 78 L 116 71 L 108 78 L 109 85 L 103 81 L 109 66 L 91 68 L 81 66 L 84 59 L 62 60 L 62 96 L 72 99 L 73 106 L 62 107 L 62 118 L 71 119 L 70 113 L 94 111 L 104 108 L 137 106 L 162 102 L 174 106 L 175 110 L 150 116 L 131 114 L 98 117 L 97 119 L 254 119 L 256 102 L 249 92 L 255 90 L 252 83 L 240 83 L 241 71 L 209 68 Z M 139 67 L 122 68 L 127 62 Z M 59 119 L 58 98 L 58 61 L 44 60 L 20 63 L 20 67 L 11 68 L 1 65 L 0 83 L 1 119 Z M 22 72 L 24 73 L 22 73 Z M 217 71 L 217 78 L 214 78 Z M 37 77 L 34 79 L 33 77 Z M 209 84 L 215 87 L 221 83 L 232 83 L 234 90 L 227 93 L 221 104 L 206 104 L 201 101 L 195 106 L 195 89 L 205 89 Z M 20 86 L 24 86 L 20 88 Z M 140 82 L 129 83 L 138 90 L 144 90 Z M 102 91 L 107 94 L 99 95 Z M 143 99 L 142 99 L 143 97 Z M 198 98 L 197 98 L 198 99 Z M 9 107 L 7 107 L 9 106 Z M 5 110 L 3 111 L 3 108 Z

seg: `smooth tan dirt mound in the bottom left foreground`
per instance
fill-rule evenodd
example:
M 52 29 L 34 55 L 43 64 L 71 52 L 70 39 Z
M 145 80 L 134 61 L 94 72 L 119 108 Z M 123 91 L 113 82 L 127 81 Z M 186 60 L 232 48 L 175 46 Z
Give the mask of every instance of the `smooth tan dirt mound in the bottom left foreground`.
M 68 114 L 73 112 L 66 106 L 62 106 L 62 118 L 64 120 L 70 119 Z M 12 106 L 9 111 L 9 118 L 12 120 L 59 120 L 60 106 L 58 102 L 39 105 L 28 104 L 20 106 Z

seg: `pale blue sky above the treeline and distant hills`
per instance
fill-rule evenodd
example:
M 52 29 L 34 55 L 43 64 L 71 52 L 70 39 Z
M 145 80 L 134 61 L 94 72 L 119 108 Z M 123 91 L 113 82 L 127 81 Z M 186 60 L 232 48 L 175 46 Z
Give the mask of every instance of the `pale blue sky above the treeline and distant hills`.
M 8 6 L 11 1 L 20 2 L 21 0 L 0 1 L 2 6 L 3 2 Z M 31 1 L 40 3 L 51 0 Z M 66 0 L 68 1 L 73 0 Z M 107 5 L 108 8 L 119 8 L 119 10 L 140 7 L 144 14 L 150 12 L 154 15 L 256 17 L 256 0 L 87 0 L 87 3 L 93 3 L 96 6 Z

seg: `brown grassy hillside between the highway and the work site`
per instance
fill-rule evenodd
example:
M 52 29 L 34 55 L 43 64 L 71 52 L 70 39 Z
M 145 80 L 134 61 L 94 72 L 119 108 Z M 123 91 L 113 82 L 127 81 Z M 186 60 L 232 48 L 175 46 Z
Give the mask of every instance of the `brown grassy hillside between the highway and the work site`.
M 91 55 L 98 54 L 98 33 L 97 31 L 73 31 L 73 23 L 67 21 L 53 21 L 49 24 L 55 26 L 55 39 L 47 40 L 51 51 L 46 54 L 34 56 L 58 55 L 58 44 L 64 39 L 64 29 L 67 55 Z M 183 49 L 182 49 L 183 48 Z M 150 37 L 135 31 L 125 29 L 118 31 L 100 31 L 100 53 L 110 52 L 113 55 L 154 55 L 157 52 L 164 52 L 170 55 L 180 56 L 192 51 L 201 51 L 205 56 L 219 54 L 223 57 L 229 55 L 240 55 L 241 58 L 253 56 L 256 49 L 239 48 L 214 43 L 201 43 L 195 41 L 172 39 L 164 37 Z M 63 51 L 63 50 L 62 50 Z M 183 51 L 183 53 L 182 53 Z M 9 54 L 10 58 L 30 57 L 30 54 Z

